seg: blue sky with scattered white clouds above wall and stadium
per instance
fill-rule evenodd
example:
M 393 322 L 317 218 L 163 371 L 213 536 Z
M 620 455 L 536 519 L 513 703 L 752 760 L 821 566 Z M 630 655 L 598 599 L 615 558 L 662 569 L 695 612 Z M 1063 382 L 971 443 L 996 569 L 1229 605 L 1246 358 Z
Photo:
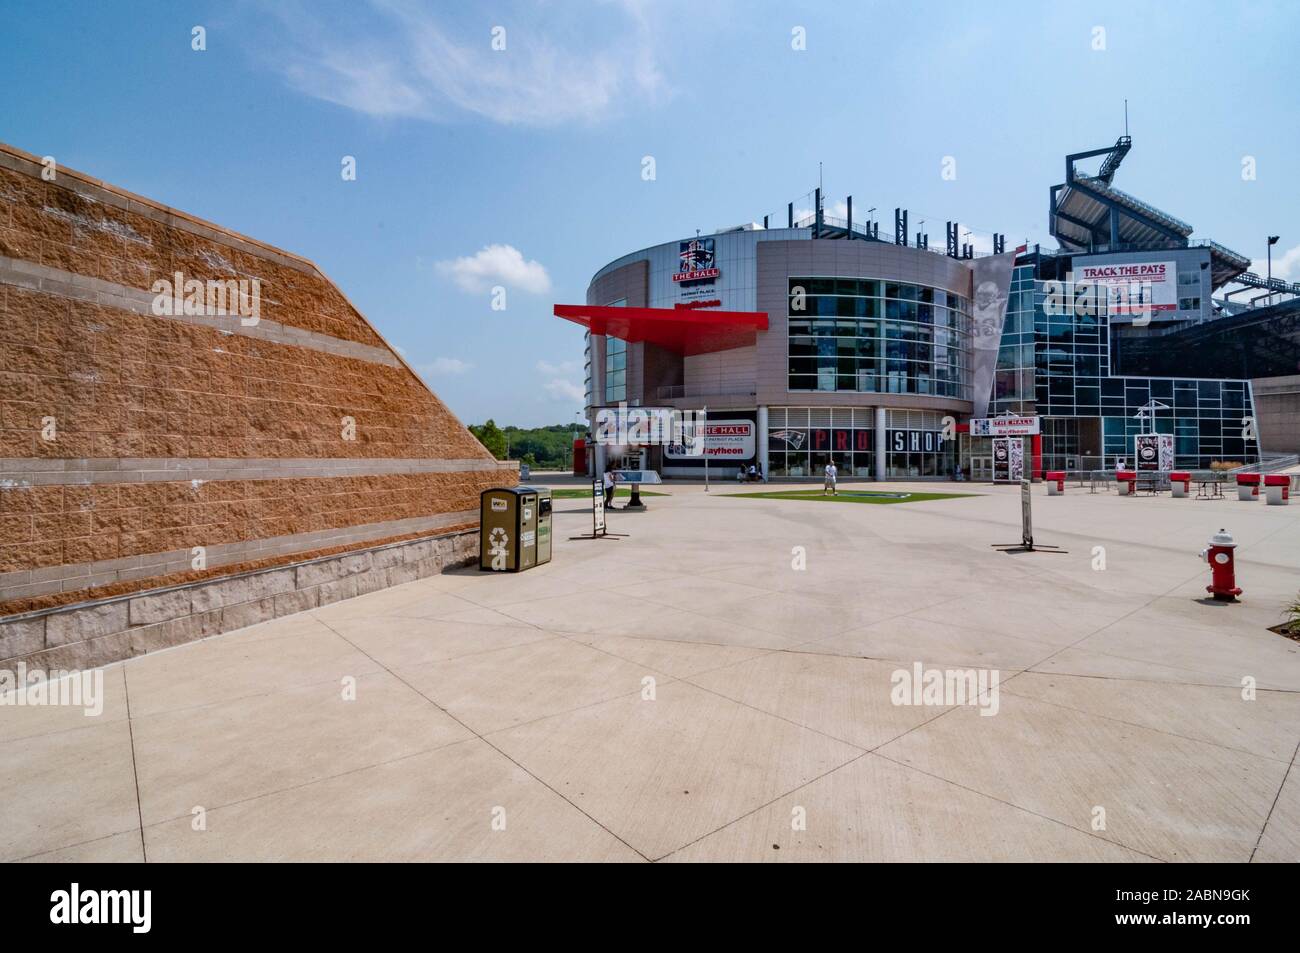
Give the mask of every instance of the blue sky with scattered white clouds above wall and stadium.
M 1126 98 L 1115 185 L 1254 259 L 1280 234 L 1300 280 L 1294 3 L 0 8 L 0 140 L 313 259 L 467 423 L 572 421 L 581 332 L 551 306 L 628 251 L 810 207 L 819 161 L 828 211 L 1050 243 L 1048 186 Z

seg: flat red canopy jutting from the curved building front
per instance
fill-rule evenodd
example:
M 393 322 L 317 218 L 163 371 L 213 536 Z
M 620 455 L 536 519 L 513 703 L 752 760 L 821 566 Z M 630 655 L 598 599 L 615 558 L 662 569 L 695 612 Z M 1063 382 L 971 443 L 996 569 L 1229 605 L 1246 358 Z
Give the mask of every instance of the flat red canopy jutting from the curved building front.
M 593 334 L 608 334 L 632 343 L 645 341 L 682 355 L 746 347 L 758 341 L 758 332 L 767 330 L 766 311 L 556 304 L 555 316 L 580 324 Z

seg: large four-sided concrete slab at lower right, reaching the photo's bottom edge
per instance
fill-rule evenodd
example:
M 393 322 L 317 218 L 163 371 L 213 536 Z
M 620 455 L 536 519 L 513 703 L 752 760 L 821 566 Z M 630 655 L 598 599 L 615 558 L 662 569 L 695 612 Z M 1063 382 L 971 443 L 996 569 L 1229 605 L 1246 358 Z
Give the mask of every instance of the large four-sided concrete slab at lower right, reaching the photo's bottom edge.
M 1004 692 L 880 749 L 945 780 L 1165 861 L 1249 858 L 1286 764 Z M 1100 816 L 1100 815 L 1098 815 Z

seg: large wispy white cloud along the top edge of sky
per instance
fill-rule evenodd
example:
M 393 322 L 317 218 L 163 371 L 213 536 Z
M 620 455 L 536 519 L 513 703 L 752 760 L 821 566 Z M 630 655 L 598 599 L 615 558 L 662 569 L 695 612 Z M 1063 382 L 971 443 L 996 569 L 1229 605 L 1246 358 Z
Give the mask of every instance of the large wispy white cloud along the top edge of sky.
M 376 117 L 546 126 L 599 120 L 664 92 L 650 22 L 632 0 L 595 12 L 516 5 L 460 29 L 447 10 L 411 0 L 367 7 L 346 10 L 348 29 L 332 31 L 318 7 L 277 0 L 266 9 L 283 30 L 268 60 L 300 92 Z M 491 48 L 485 23 L 506 25 L 504 51 Z

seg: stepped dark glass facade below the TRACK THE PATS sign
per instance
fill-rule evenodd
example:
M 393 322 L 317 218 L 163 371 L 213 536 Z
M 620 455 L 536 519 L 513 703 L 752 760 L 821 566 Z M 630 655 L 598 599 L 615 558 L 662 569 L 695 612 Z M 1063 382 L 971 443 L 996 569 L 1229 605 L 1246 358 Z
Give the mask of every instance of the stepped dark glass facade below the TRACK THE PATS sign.
M 1072 300 L 1074 289 L 1063 289 Z M 1080 456 L 1084 468 L 1113 468 L 1117 458 L 1132 463 L 1134 436 L 1143 430 L 1174 434 L 1179 467 L 1257 458 L 1248 381 L 1112 376 L 1104 307 L 1049 315 L 1046 298 L 1035 265 L 1018 267 L 989 403 L 989 416 L 1043 417 L 1044 468 L 1066 469 Z M 1152 402 L 1167 410 L 1144 425 L 1138 413 Z

